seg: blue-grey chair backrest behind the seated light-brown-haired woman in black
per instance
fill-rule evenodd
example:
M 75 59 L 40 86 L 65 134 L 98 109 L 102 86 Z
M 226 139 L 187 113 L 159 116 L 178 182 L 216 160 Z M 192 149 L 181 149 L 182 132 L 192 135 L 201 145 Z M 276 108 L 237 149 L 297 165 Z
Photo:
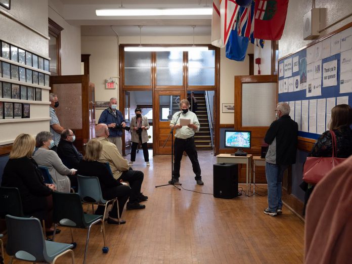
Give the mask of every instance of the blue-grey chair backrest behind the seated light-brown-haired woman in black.
M 106 203 L 100 188 L 97 177 L 85 177 L 77 175 L 78 194 L 83 202 L 87 203 Z

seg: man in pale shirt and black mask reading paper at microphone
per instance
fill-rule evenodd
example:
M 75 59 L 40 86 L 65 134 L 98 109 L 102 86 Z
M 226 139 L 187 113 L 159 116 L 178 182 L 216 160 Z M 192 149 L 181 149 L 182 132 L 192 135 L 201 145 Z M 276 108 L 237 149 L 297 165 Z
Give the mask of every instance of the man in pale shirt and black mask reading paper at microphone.
M 188 102 L 188 100 L 181 100 L 179 105 L 181 111 L 174 113 L 170 122 L 171 129 L 173 128 L 176 132 L 173 151 L 173 179 L 171 179 L 168 183 L 179 183 L 182 154 L 184 151 L 186 151 L 188 157 L 192 162 L 193 172 L 196 174 L 196 177 L 194 179 L 196 180 L 198 185 L 204 185 L 204 183 L 202 182 L 202 177 L 200 175 L 198 153 L 194 144 L 194 133 L 195 131 L 199 131 L 200 124 L 197 115 L 189 110 L 190 103 Z M 190 119 L 190 124 L 188 124 L 187 126 L 182 126 L 180 124 L 180 119 Z

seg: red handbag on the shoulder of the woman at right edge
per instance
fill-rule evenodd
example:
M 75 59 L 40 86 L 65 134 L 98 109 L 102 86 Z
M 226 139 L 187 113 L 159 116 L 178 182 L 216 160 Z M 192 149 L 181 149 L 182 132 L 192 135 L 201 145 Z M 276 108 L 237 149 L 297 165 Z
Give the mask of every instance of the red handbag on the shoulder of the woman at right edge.
M 332 157 L 307 157 L 303 166 L 303 181 L 310 184 L 317 184 L 335 166 L 342 163 L 345 158 L 336 158 L 336 136 L 330 130 L 332 138 Z

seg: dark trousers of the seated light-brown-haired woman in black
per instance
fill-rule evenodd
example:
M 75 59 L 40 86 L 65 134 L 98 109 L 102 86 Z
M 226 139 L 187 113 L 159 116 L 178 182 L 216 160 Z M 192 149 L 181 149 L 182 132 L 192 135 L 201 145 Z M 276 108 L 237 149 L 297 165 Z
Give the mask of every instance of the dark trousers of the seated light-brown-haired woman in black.
M 105 200 L 111 200 L 114 198 L 117 198 L 118 200 L 118 211 L 120 214 L 120 217 L 122 215 L 123 207 L 125 203 L 127 202 L 127 199 L 129 197 L 129 194 L 131 192 L 131 188 L 125 185 L 120 185 L 120 186 L 114 186 L 109 189 L 104 190 L 103 192 L 103 198 Z M 104 213 L 104 206 L 99 205 L 98 209 L 96 211 L 96 214 L 103 214 Z M 114 203 L 113 207 L 111 208 L 111 211 L 109 212 L 109 216 L 113 218 L 117 218 L 117 205 Z

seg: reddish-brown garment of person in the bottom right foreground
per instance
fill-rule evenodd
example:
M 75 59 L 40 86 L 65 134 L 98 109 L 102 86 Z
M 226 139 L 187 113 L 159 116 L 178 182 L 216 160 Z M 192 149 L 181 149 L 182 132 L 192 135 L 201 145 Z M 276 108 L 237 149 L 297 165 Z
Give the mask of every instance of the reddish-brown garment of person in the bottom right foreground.
M 352 157 L 349 157 L 314 188 L 305 215 L 305 264 L 351 263 L 351 174 Z

